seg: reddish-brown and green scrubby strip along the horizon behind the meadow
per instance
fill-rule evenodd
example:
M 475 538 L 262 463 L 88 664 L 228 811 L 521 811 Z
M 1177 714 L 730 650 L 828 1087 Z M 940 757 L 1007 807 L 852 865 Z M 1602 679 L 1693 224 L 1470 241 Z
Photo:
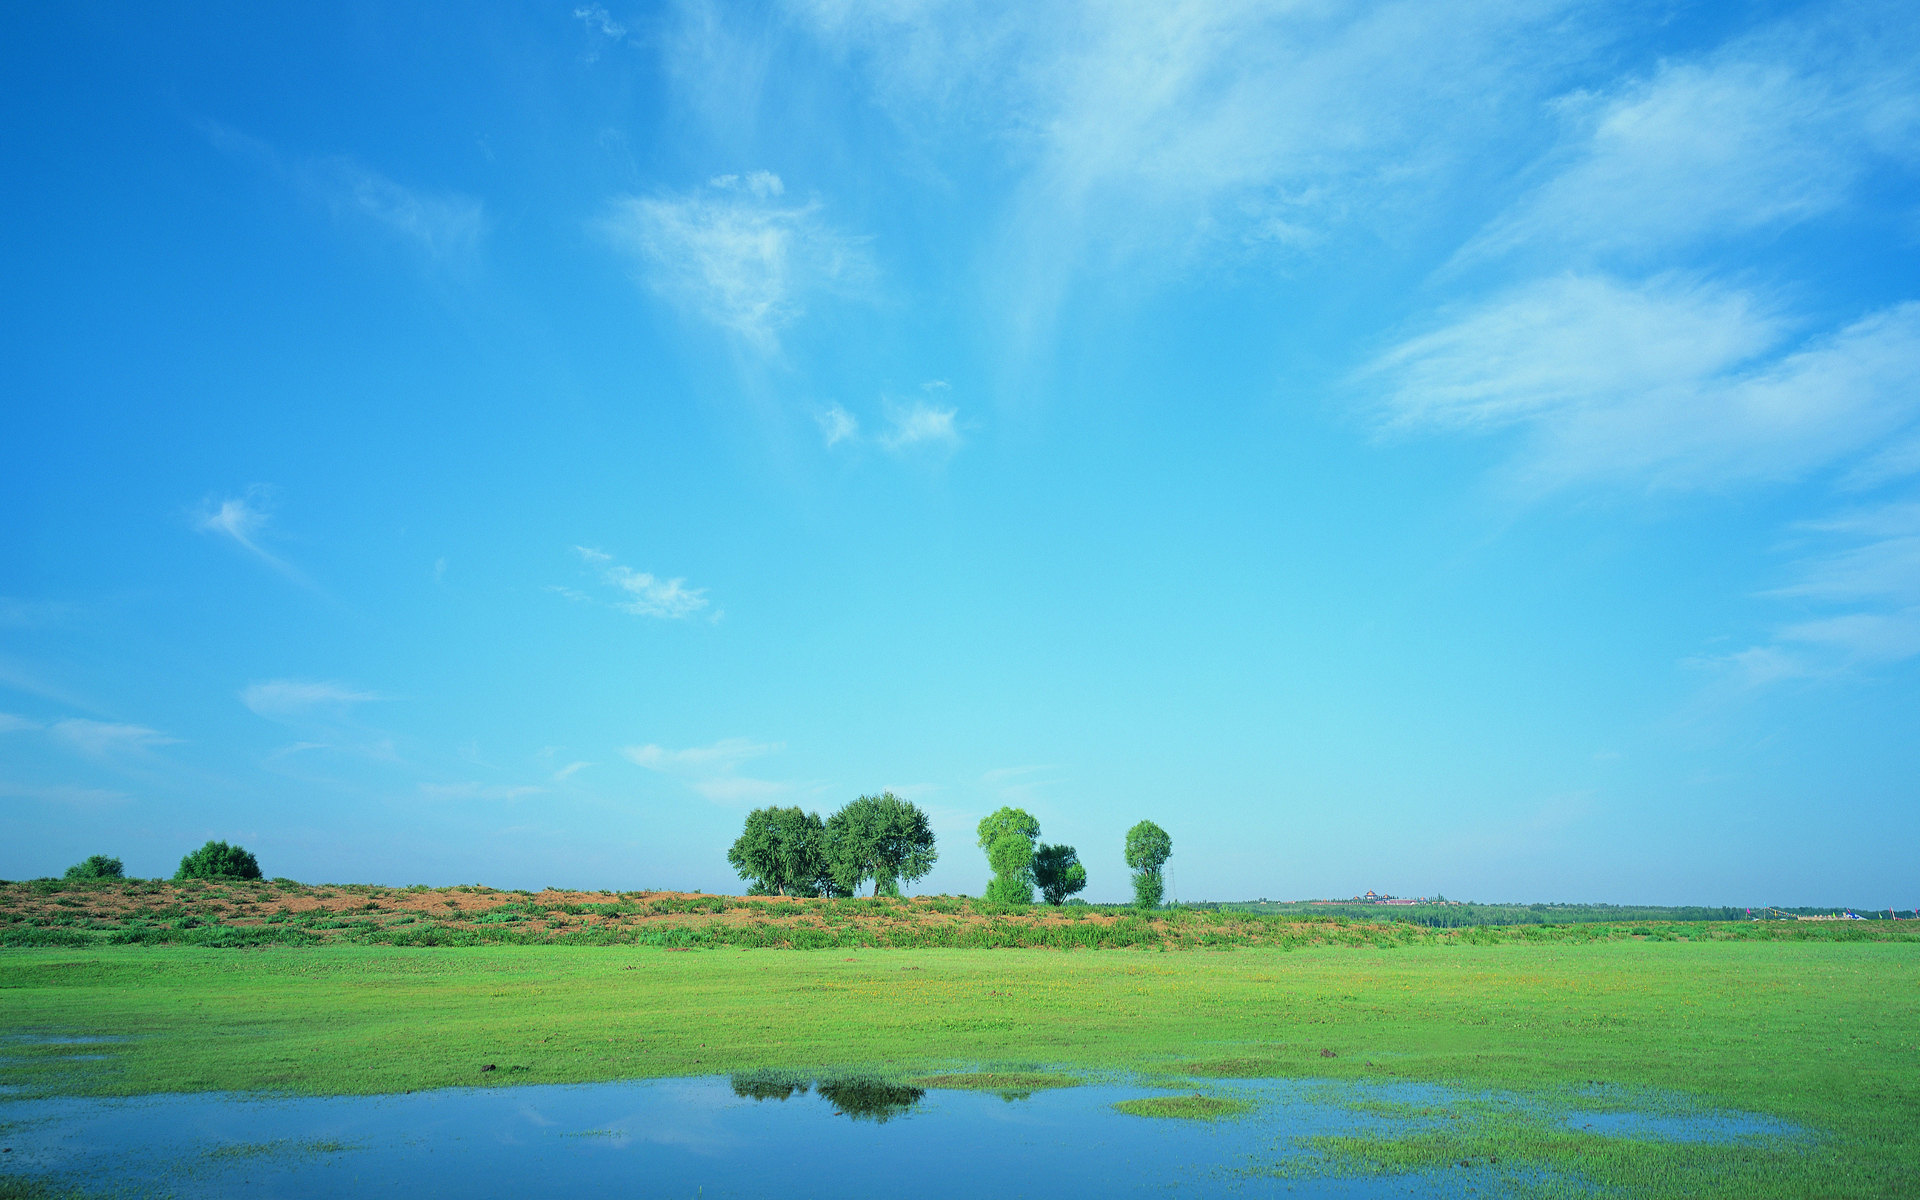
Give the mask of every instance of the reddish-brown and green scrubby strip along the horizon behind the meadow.
M 636 945 L 664 948 L 1300 948 L 1592 941 L 1920 941 L 1920 922 L 1540 922 L 275 881 L 0 883 L 0 947 Z

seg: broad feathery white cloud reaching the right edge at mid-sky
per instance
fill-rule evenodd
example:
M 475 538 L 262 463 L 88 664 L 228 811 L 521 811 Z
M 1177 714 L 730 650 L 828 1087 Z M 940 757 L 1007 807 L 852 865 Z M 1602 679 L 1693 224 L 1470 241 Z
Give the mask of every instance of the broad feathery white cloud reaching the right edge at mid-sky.
M 1361 382 L 1388 428 L 1524 430 L 1528 488 L 1789 480 L 1920 413 L 1920 303 L 1791 346 L 1751 294 L 1567 275 L 1409 338 Z

